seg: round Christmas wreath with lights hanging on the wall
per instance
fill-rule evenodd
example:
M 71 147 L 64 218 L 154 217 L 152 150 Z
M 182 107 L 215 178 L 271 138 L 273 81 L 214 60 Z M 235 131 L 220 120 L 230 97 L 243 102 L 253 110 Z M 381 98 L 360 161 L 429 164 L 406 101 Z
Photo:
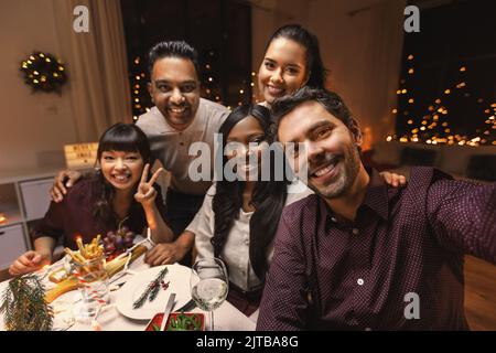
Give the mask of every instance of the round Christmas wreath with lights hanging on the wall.
M 34 52 L 21 63 L 25 84 L 33 90 L 61 93 L 62 86 L 67 81 L 64 64 L 53 56 L 42 52 Z

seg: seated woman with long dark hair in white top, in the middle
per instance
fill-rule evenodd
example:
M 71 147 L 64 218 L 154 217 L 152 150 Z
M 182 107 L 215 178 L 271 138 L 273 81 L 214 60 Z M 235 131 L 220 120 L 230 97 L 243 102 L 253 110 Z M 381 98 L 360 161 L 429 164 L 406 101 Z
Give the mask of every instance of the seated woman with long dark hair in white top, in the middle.
M 215 256 L 226 263 L 230 281 L 227 300 L 247 315 L 259 304 L 282 208 L 310 193 L 288 194 L 290 183 L 273 181 L 272 175 L 269 181 L 259 181 L 266 161 L 261 154 L 271 142 L 269 128 L 269 110 L 259 105 L 237 107 L 227 117 L 219 129 L 227 154 L 223 157 L 224 178 L 207 191 L 187 227 L 195 233 L 197 258 Z M 252 154 L 258 159 L 250 163 Z M 237 173 L 235 181 L 227 180 L 225 171 L 230 167 Z

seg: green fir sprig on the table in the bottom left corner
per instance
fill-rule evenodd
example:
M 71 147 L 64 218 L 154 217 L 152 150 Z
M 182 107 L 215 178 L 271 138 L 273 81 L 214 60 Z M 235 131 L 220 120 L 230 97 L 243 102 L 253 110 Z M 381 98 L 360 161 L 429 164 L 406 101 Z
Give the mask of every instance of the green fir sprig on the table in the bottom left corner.
M 8 331 L 50 331 L 53 310 L 45 301 L 45 288 L 35 275 L 12 279 L 2 295 Z

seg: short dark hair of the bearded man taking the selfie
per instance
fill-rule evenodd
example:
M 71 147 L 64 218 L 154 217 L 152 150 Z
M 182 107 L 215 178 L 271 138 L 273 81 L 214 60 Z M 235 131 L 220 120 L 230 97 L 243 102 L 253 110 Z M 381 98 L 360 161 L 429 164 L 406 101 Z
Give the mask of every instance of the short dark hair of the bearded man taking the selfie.
M 293 95 L 283 96 L 272 103 L 272 118 L 276 121 L 277 128 L 279 129 L 279 124 L 285 115 L 291 113 L 299 105 L 311 100 L 321 104 L 325 110 L 343 121 L 348 128 L 351 127 L 353 119 L 352 113 L 336 93 L 323 88 L 304 86 Z

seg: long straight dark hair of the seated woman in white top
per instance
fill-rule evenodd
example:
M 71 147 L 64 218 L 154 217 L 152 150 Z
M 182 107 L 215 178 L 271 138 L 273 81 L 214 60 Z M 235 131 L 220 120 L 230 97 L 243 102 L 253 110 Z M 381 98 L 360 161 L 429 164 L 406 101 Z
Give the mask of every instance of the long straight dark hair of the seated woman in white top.
M 219 133 L 223 136 L 223 151 L 225 151 L 227 136 L 230 130 L 236 124 L 247 117 L 254 117 L 258 120 L 266 133 L 265 140 L 271 143 L 269 110 L 259 105 L 242 105 L 234 109 L 219 128 Z M 223 170 L 227 161 L 227 157 L 224 156 Z M 288 195 L 287 182 L 276 181 L 273 178 L 273 160 L 271 160 L 270 167 L 271 180 L 257 181 L 251 196 L 251 204 L 255 207 L 255 212 L 250 220 L 249 256 L 251 266 L 260 280 L 265 279 L 265 274 L 268 269 L 267 249 L 276 235 L 279 217 L 281 216 Z M 212 245 L 214 246 L 216 257 L 220 256 L 233 223 L 239 217 L 239 210 L 242 207 L 244 189 L 244 181 L 227 181 L 225 178 L 217 181 L 216 194 L 214 195 L 212 206 L 215 214 L 215 229 Z

